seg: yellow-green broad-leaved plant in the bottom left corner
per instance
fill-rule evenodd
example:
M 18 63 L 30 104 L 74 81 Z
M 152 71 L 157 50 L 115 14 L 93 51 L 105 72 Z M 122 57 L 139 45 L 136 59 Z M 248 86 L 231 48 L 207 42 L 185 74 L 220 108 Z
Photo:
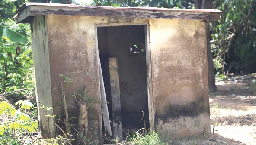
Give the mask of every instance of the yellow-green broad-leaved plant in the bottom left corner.
M 35 109 L 34 105 L 28 100 L 20 100 L 15 105 L 19 108 L 15 108 L 6 101 L 0 103 L 0 117 L 6 118 L 0 123 L 0 144 L 11 143 L 16 145 L 15 136 L 17 132 L 28 131 L 32 133 L 37 130 L 37 121 L 29 117 L 29 111 Z

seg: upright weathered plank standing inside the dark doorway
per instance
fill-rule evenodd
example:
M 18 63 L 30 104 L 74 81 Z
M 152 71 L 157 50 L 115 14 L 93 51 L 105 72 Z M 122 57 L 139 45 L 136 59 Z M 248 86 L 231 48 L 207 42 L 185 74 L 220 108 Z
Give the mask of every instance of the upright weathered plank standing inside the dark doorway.
M 122 115 L 117 58 L 109 58 L 114 139 L 122 140 Z

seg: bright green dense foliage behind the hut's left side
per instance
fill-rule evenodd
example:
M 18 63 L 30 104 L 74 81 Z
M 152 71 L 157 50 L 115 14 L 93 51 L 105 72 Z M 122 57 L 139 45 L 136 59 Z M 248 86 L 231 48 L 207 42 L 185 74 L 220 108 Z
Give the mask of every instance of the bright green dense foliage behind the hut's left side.
M 2 1 L 0 25 L 30 38 L 29 24 L 16 24 L 14 2 Z M 15 37 L 15 36 L 14 36 Z M 7 40 L 6 40 L 7 39 Z M 34 88 L 31 41 L 24 45 L 0 38 L 0 92 Z

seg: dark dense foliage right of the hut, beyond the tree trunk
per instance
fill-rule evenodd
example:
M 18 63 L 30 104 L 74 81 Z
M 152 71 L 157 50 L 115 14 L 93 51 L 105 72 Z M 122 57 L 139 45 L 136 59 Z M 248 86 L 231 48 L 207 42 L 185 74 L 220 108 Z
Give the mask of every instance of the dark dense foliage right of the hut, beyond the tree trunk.
M 212 23 L 212 51 L 218 74 L 256 72 L 256 0 L 216 0 L 223 11 Z

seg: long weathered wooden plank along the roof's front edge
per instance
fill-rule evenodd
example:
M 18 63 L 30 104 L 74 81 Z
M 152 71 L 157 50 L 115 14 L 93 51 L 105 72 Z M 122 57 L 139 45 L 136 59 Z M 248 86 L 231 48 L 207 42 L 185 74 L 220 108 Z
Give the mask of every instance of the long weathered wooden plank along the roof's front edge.
M 165 18 L 165 19 L 219 19 L 218 13 L 190 12 L 190 11 L 141 11 L 128 9 L 84 9 L 63 7 L 56 9 L 49 6 L 31 6 L 31 15 L 79 15 L 79 16 L 107 16 L 124 18 Z

